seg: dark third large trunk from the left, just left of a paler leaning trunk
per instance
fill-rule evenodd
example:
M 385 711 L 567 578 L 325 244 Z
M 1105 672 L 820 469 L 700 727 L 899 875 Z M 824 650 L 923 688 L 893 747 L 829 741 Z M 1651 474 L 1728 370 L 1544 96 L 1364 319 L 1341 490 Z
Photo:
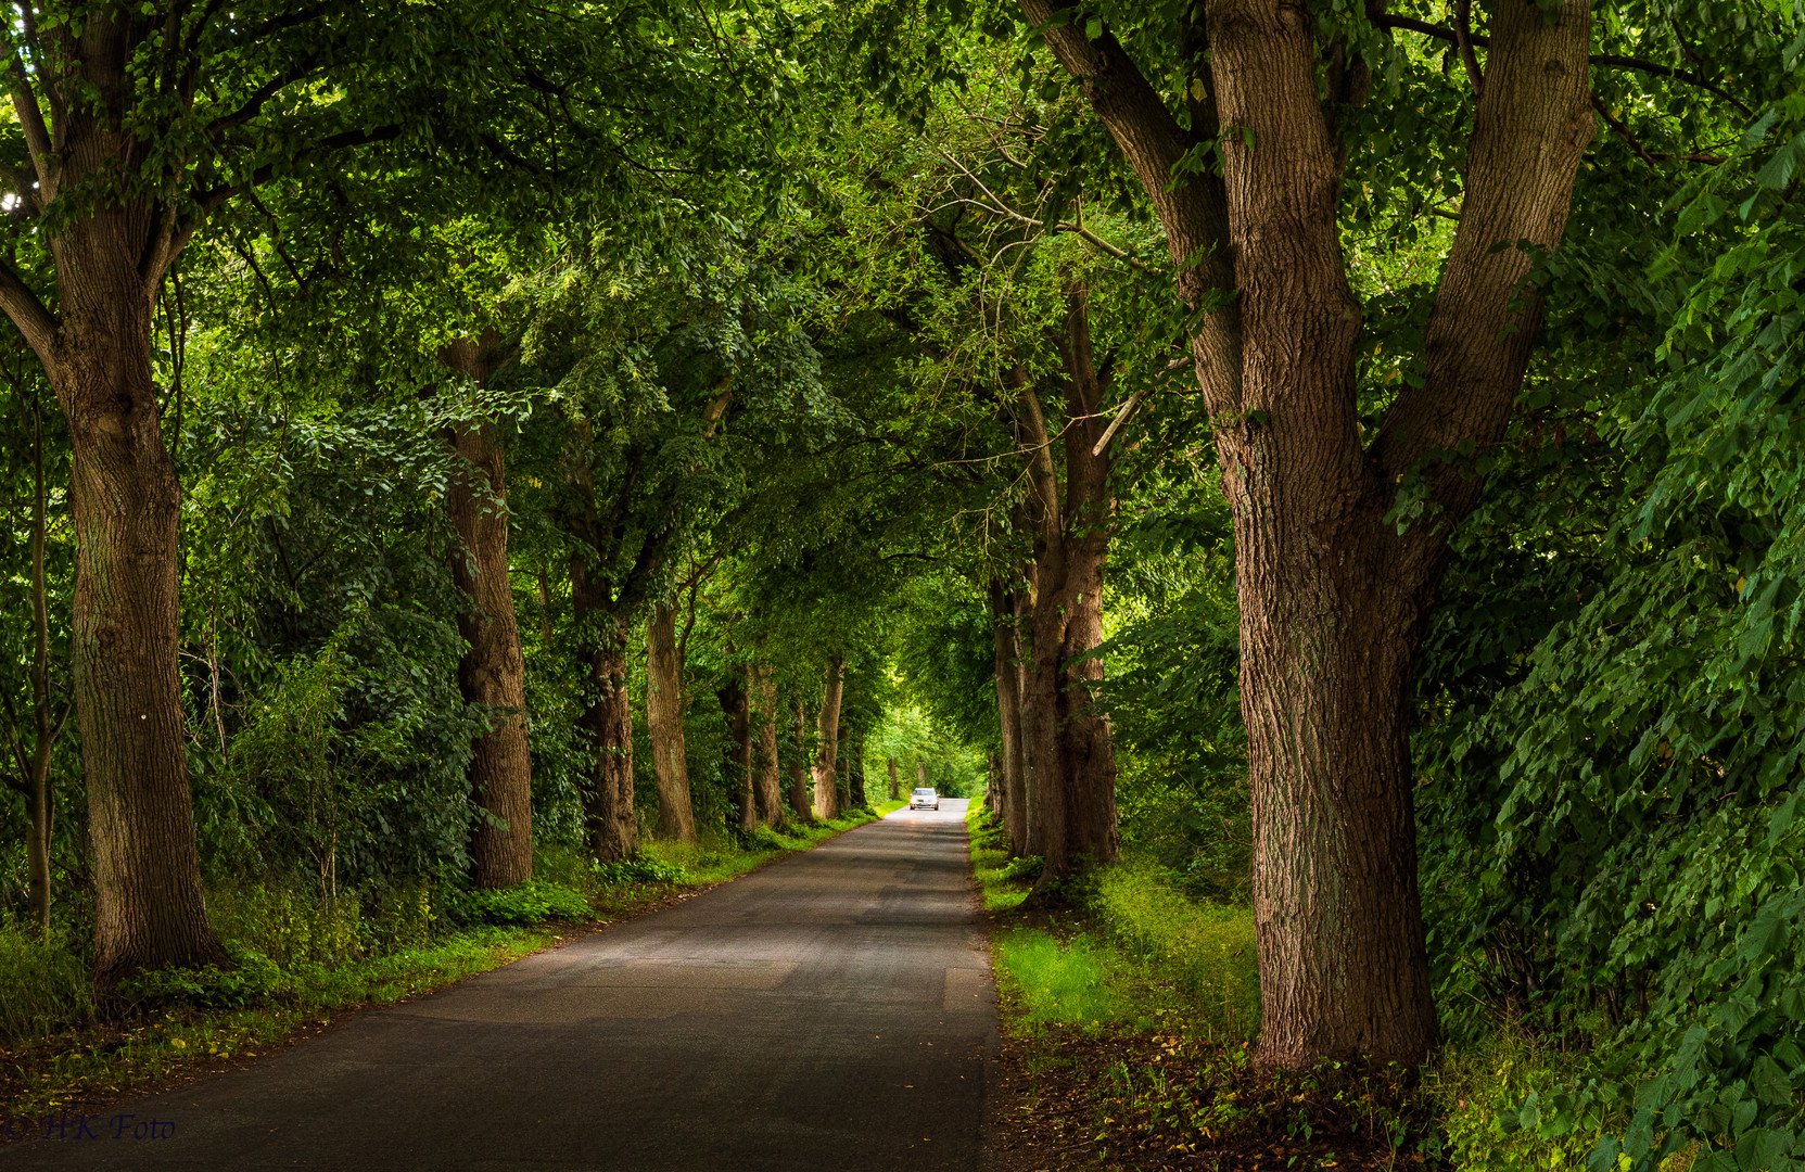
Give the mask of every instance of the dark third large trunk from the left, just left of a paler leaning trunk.
M 583 553 L 570 558 L 570 601 L 581 632 L 581 663 L 587 668 L 587 704 L 578 730 L 596 753 L 594 780 L 583 814 L 590 849 L 601 861 L 630 858 L 639 849 L 639 814 L 634 809 L 634 710 L 626 693 L 626 623 L 603 609 L 599 583 L 588 574 Z

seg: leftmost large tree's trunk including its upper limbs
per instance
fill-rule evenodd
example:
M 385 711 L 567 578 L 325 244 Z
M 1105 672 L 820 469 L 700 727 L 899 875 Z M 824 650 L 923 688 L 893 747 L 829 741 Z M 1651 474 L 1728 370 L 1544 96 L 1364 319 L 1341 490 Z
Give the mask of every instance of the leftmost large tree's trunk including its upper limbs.
M 208 923 L 184 748 L 179 639 L 180 482 L 162 446 L 150 330 L 184 199 L 125 112 L 152 25 L 94 11 L 42 27 L 79 101 L 43 117 L 18 70 L 13 107 L 31 166 L 16 213 L 38 217 L 81 191 L 40 238 L 56 267 L 56 316 L 0 265 L 0 309 L 38 354 L 69 421 L 69 511 L 76 531 L 70 674 L 81 722 L 94 860 L 94 981 L 139 968 L 224 963 Z M 42 74 L 40 74 L 42 76 Z M 51 94 L 47 94 L 49 98 Z M 47 125 L 49 123 L 49 125 Z M 155 175 L 144 170 L 144 159 Z M 25 184 L 20 179 L 18 184 Z M 166 202 L 168 200 L 168 202 Z

